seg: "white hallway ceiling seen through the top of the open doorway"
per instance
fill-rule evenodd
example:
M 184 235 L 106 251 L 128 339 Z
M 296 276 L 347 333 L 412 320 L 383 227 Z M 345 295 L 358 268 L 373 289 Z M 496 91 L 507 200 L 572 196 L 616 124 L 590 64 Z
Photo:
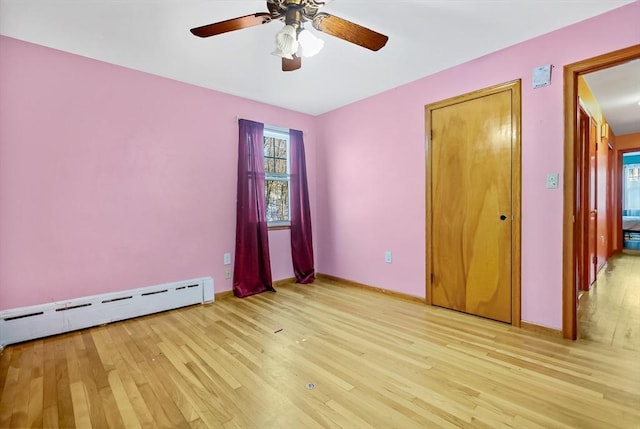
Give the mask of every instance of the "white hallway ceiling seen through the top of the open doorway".
M 616 136 L 640 133 L 640 59 L 584 78 Z

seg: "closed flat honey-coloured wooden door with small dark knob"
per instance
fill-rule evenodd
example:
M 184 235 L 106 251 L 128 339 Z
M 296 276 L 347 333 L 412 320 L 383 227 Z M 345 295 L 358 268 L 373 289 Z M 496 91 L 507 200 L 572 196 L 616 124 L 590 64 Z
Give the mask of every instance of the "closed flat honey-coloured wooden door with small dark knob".
M 514 194 L 519 198 L 513 183 L 519 172 L 515 89 L 428 106 L 431 303 L 503 322 L 513 320 L 513 274 L 519 273 L 512 253 Z

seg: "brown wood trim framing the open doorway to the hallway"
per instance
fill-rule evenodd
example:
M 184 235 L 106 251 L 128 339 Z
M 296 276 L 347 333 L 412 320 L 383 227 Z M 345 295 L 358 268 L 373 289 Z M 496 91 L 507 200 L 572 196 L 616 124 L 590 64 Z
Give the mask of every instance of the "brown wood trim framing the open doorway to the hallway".
M 577 225 L 575 219 L 577 199 L 576 178 L 582 172 L 576 163 L 578 140 L 578 76 L 616 66 L 640 58 L 640 45 L 579 61 L 564 67 L 564 208 L 562 240 L 562 335 L 575 340 L 578 337 L 578 295 L 576 291 Z

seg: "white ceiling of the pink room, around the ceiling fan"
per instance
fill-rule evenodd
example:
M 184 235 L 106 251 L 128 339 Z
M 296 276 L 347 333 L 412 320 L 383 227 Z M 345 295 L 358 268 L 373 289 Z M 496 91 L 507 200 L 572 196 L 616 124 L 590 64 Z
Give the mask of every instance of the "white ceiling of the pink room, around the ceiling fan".
M 0 34 L 318 115 L 632 2 L 335 0 L 323 11 L 389 42 L 371 52 L 317 33 L 325 48 L 289 73 L 270 55 L 280 22 L 189 33 L 266 12 L 264 0 L 0 0 Z

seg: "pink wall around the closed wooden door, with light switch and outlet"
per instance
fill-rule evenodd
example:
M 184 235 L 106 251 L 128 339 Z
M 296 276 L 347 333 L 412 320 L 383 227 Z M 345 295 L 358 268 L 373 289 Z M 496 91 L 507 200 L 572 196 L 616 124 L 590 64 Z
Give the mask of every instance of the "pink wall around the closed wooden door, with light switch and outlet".
M 424 106 L 522 79 L 522 319 L 560 329 L 562 183 L 545 178 L 563 173 L 562 68 L 640 43 L 638 22 L 636 2 L 322 115 L 318 270 L 424 297 Z M 552 85 L 533 90 L 531 70 L 549 63 Z

